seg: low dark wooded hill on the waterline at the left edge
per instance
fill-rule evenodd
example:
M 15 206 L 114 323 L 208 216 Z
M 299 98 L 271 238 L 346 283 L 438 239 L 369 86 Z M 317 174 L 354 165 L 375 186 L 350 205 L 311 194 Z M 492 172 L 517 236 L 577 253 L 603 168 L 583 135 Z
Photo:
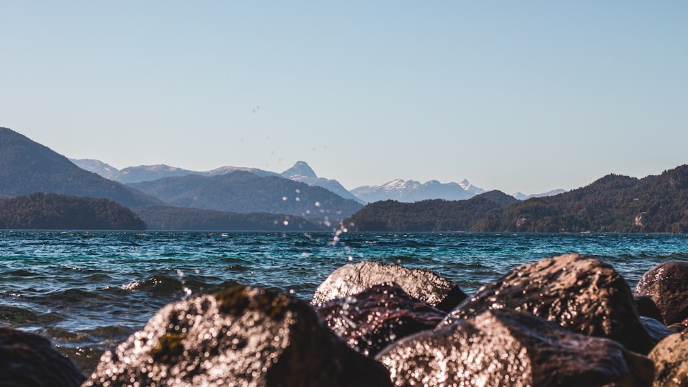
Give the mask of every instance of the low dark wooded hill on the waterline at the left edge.
M 0 199 L 1 229 L 145 230 L 128 208 L 107 199 L 34 193 Z

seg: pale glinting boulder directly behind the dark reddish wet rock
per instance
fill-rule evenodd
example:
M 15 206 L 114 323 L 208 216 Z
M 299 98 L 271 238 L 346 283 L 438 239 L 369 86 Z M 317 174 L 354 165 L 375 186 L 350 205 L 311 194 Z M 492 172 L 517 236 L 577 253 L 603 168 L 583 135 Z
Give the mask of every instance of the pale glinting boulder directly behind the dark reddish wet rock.
M 451 311 L 466 294 L 450 280 L 423 269 L 407 269 L 393 263 L 363 261 L 343 265 L 316 289 L 312 305 L 345 298 L 381 283 L 397 283 L 411 297 L 442 311 Z

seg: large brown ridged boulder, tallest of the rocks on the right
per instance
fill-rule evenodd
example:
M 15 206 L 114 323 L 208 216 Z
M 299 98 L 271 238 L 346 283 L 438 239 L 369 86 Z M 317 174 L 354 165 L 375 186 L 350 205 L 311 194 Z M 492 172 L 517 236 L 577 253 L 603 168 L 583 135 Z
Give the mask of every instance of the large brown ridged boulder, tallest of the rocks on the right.
M 583 335 L 610 338 L 638 353 L 647 354 L 654 346 L 626 281 L 607 263 L 579 254 L 516 267 L 478 289 L 443 323 L 502 308 L 528 311 Z

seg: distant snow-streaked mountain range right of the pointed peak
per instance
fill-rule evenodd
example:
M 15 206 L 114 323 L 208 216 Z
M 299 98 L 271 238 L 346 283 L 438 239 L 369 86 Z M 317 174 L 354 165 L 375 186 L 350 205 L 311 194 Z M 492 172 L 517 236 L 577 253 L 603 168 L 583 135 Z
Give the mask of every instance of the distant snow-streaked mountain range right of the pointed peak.
M 396 179 L 380 186 L 362 186 L 354 188 L 351 192 L 367 203 L 380 200 L 396 200 L 412 203 L 413 201 L 429 199 L 469 199 L 485 191 L 481 188 L 472 186 L 466 180 L 462 181 L 461 184 L 442 184 L 437 180 L 431 180 L 424 184 L 420 184 L 420 181 Z

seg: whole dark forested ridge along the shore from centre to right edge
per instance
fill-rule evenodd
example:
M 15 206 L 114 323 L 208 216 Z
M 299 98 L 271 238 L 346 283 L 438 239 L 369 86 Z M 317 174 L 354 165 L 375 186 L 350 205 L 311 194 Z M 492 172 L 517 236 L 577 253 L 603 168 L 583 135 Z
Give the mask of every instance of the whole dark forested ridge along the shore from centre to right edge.
M 688 165 L 643 179 L 607 175 L 549 197 L 507 197 L 380 201 L 347 221 L 360 231 L 688 232 Z

